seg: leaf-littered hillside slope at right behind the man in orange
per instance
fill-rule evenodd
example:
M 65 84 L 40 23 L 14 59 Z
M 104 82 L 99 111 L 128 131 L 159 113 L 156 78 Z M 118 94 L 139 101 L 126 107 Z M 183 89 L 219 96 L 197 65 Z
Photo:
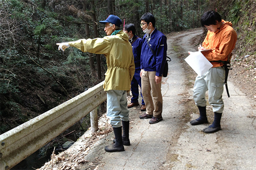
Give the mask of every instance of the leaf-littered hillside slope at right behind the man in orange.
M 256 2 L 236 1 L 228 17 L 237 31 L 230 77 L 248 97 L 256 100 Z

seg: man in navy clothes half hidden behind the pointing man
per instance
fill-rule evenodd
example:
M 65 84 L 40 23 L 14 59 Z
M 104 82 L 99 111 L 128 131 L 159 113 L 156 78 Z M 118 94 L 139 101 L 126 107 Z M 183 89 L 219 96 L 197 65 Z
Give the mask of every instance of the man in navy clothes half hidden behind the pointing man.
M 129 36 L 129 42 L 131 43 L 132 52 L 134 56 L 134 63 L 135 63 L 135 73 L 133 75 L 132 81 L 131 81 L 131 103 L 127 105 L 128 108 L 131 108 L 133 106 L 139 106 L 139 86 L 141 87 L 141 46 L 142 46 L 142 39 L 135 35 L 135 26 L 134 24 L 126 24 L 124 27 L 124 32 L 126 32 Z M 146 106 L 143 100 L 142 92 L 142 106 L 141 111 L 146 110 Z

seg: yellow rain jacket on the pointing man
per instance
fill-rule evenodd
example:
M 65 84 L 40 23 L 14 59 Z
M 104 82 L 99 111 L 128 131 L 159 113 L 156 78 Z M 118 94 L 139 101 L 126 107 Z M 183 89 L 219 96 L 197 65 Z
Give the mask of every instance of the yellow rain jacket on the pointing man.
M 116 35 L 69 42 L 83 52 L 104 54 L 107 59 L 104 90 L 130 90 L 135 65 L 128 35 L 121 30 Z

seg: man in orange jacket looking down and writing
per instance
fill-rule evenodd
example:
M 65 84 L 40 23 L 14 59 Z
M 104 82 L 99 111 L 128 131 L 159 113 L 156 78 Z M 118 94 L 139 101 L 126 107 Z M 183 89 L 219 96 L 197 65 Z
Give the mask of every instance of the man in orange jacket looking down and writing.
M 191 125 L 208 123 L 206 115 L 206 91 L 208 90 L 209 104 L 213 106 L 214 121 L 203 129 L 204 133 L 214 133 L 221 129 L 220 119 L 224 110 L 222 94 L 225 80 L 225 62 L 227 62 L 235 47 L 236 31 L 232 23 L 221 19 L 216 11 L 208 11 L 201 16 L 201 25 L 208 29 L 206 38 L 198 50 L 209 60 L 213 67 L 201 76 L 197 76 L 194 84 L 194 100 L 199 109 L 200 117 L 192 120 Z

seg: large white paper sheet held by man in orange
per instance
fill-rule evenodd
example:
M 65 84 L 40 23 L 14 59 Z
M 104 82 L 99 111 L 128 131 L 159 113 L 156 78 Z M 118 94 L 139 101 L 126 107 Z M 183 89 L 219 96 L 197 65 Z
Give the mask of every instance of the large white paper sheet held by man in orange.
M 203 75 L 210 68 L 212 68 L 212 63 L 210 63 L 206 57 L 200 52 L 190 52 L 190 55 L 185 58 L 187 64 L 199 75 Z

